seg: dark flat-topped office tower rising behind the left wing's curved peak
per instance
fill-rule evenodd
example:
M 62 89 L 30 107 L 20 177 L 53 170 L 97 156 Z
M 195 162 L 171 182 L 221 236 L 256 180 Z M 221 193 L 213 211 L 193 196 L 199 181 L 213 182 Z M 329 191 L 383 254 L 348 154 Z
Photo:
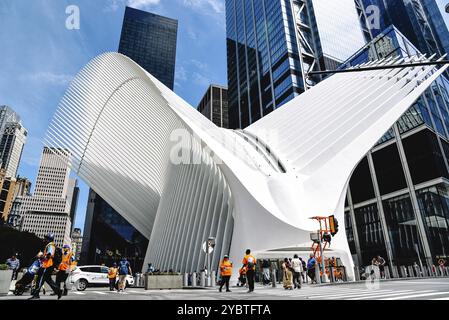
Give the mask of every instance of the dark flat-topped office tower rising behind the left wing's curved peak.
M 173 90 L 178 21 L 126 7 L 118 52 Z

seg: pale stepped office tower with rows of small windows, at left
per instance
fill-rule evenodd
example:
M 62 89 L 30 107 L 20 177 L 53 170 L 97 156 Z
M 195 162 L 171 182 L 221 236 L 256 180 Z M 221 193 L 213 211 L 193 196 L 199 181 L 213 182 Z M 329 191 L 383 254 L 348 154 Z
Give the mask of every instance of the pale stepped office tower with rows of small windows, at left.
M 76 181 L 70 179 L 68 167 L 70 152 L 58 149 L 55 155 L 53 148 L 45 147 L 42 153 L 36 187 L 32 196 L 22 198 L 20 207 L 21 230 L 44 236 L 45 232 L 53 232 L 57 244 L 70 244 L 72 222 L 70 214 L 76 206 Z

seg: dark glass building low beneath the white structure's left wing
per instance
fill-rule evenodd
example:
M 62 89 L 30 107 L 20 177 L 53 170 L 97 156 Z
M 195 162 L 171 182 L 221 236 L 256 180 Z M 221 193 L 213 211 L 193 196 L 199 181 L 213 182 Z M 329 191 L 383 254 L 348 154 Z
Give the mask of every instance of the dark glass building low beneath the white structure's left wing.
M 110 266 L 125 256 L 133 272 L 139 272 L 147 247 L 148 239 L 91 190 L 80 264 Z

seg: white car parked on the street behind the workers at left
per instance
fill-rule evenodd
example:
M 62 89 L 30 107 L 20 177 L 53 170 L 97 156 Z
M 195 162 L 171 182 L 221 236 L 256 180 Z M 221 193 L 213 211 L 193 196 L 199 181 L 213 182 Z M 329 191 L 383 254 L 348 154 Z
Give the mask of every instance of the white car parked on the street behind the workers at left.
M 84 291 L 87 287 L 108 287 L 108 267 L 105 266 L 77 266 L 70 273 L 69 282 L 74 284 L 78 291 Z M 118 277 L 116 280 L 116 287 Z M 132 275 L 126 276 L 126 287 L 134 285 Z

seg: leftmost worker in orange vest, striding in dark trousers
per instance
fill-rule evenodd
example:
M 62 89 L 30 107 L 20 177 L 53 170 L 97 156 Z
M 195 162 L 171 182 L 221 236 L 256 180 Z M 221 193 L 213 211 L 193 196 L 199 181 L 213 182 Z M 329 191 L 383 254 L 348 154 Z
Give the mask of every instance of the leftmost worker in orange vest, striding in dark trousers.
M 48 285 L 52 288 L 53 292 L 58 295 L 58 299 L 61 299 L 62 290 L 60 290 L 56 286 L 56 283 L 51 278 L 54 270 L 53 258 L 55 256 L 56 251 L 54 239 L 55 236 L 52 233 L 49 233 L 45 236 L 45 240 L 48 241 L 48 244 L 45 246 L 44 259 L 42 261 L 42 266 L 38 271 L 37 288 L 36 290 L 34 290 L 34 294 L 30 298 L 30 300 L 40 299 L 39 293 L 45 282 L 48 283 Z

